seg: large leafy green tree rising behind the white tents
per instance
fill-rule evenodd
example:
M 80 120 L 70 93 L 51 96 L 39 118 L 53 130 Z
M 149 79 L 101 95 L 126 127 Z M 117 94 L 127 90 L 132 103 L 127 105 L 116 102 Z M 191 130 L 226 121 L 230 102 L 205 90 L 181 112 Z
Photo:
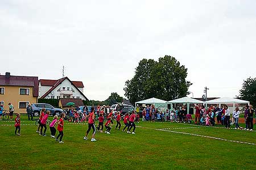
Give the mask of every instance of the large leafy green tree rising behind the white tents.
M 167 101 L 184 97 L 192 84 L 186 78 L 187 69 L 174 57 L 164 56 L 158 62 L 142 59 L 134 77 L 125 83 L 125 96 L 132 104 L 151 97 Z

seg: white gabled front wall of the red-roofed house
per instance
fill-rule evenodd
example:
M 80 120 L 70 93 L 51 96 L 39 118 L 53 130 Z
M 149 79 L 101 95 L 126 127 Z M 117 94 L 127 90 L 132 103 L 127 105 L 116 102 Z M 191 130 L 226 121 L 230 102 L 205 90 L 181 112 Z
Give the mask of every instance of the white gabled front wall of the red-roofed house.
M 43 86 L 42 86 L 43 87 Z M 66 91 L 63 92 L 63 91 L 57 91 L 59 88 L 62 88 L 65 87 Z M 70 88 L 70 92 L 67 91 L 67 87 Z M 75 90 L 75 92 L 72 92 L 71 91 L 71 88 L 73 88 L 73 90 Z M 80 99 L 82 100 L 86 100 L 84 96 L 81 95 L 81 93 L 76 89 L 75 86 L 73 86 L 71 84 L 71 82 L 69 82 L 69 80 L 64 80 L 61 84 L 59 84 L 59 86 L 57 86 L 53 91 L 52 93 L 49 93 L 49 95 L 47 95 L 44 99 L 51 99 L 52 96 L 54 96 L 55 99 L 57 99 L 57 96 L 60 96 L 60 98 L 63 98 L 63 93 L 66 93 L 67 95 L 70 94 L 71 95 L 71 98 L 73 96 L 75 96 L 75 99 L 77 96 L 80 97 Z

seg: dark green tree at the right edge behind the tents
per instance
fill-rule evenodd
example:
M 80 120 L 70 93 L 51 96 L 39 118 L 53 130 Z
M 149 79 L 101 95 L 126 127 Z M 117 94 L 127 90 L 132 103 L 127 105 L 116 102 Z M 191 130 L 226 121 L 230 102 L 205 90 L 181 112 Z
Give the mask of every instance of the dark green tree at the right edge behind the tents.
M 256 78 L 250 77 L 243 80 L 238 99 L 250 101 L 250 104 L 256 107 Z

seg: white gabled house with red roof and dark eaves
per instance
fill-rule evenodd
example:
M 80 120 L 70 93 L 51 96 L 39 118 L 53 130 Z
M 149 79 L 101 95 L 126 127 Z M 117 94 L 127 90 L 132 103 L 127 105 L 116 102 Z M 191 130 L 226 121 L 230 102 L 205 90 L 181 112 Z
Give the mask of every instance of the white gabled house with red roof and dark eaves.
M 83 92 L 84 84 L 82 82 L 71 81 L 67 77 L 59 80 L 39 80 L 40 99 L 69 98 L 88 100 Z

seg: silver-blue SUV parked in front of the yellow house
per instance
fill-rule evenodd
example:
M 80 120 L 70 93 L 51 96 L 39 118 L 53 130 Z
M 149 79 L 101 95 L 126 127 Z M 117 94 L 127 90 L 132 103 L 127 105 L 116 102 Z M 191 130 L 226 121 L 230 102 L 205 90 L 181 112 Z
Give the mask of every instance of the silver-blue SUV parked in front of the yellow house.
M 54 107 L 52 107 L 52 105 L 47 104 L 47 103 L 35 103 L 35 104 L 32 104 L 34 116 L 40 116 L 40 111 L 43 108 L 46 108 L 46 111 L 50 111 L 50 115 L 53 115 L 53 116 L 55 116 L 55 115 L 60 116 L 60 113 L 63 112 L 62 109 L 54 108 Z

